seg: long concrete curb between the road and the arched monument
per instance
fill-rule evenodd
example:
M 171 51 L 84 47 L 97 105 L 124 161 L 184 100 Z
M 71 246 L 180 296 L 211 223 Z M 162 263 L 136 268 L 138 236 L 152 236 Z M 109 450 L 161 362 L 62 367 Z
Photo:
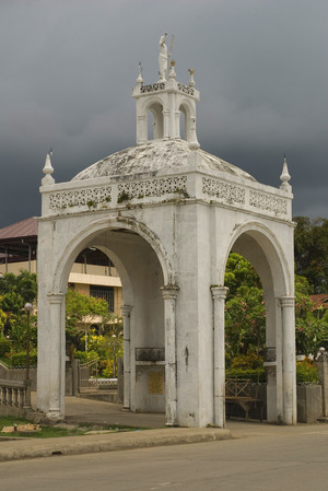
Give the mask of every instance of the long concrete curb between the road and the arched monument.
M 129 433 L 108 433 L 85 436 L 67 436 L 47 440 L 24 439 L 2 442 L 0 461 L 55 455 L 81 455 L 98 452 L 116 452 L 164 445 L 231 440 L 229 430 L 204 428 L 168 428 L 142 430 Z

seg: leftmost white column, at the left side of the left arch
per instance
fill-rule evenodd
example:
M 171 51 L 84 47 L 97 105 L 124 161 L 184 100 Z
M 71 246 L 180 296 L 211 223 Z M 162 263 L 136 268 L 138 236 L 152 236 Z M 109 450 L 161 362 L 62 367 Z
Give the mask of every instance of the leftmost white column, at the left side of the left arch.
M 65 352 L 62 352 L 62 336 L 65 329 L 61 325 L 62 315 L 62 301 L 65 299 L 63 293 L 48 293 L 50 303 L 50 339 L 48 343 L 49 348 L 49 381 L 48 381 L 48 394 L 49 394 L 49 410 L 47 418 L 51 420 L 61 420 L 65 414 Z

